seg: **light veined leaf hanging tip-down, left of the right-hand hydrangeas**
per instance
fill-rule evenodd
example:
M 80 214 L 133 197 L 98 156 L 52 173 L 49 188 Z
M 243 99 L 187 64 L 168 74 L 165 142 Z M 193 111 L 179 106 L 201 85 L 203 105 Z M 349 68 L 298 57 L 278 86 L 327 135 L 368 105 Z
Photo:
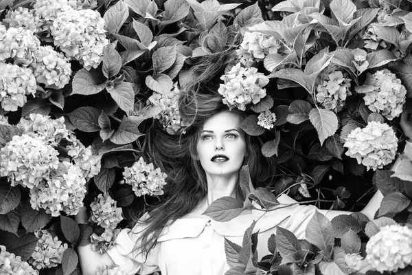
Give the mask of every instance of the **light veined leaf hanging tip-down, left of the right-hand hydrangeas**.
M 321 145 L 338 129 L 338 118 L 333 111 L 313 108 L 310 110 L 309 119 L 318 133 Z

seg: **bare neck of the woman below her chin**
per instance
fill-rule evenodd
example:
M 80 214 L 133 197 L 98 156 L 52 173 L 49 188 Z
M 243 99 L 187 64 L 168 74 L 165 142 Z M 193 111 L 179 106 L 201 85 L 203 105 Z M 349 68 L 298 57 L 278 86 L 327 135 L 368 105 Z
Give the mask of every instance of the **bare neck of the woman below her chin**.
M 207 175 L 207 203 L 210 205 L 221 197 L 236 197 L 239 175 Z

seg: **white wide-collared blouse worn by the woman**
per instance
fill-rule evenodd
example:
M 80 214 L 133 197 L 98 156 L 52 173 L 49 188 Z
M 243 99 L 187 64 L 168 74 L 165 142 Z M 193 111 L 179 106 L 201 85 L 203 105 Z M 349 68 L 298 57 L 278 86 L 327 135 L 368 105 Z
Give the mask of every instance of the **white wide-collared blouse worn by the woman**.
M 284 204 L 296 202 L 287 195 L 280 196 L 278 201 Z M 229 270 L 225 256 L 225 237 L 242 245 L 244 232 L 253 221 L 258 221 L 253 232 L 259 230 L 258 254 L 261 259 L 270 254 L 267 241 L 276 232 L 276 225 L 295 233 L 298 239 L 306 239 L 306 225 L 315 210 L 322 214 L 327 212 L 315 206 L 295 205 L 271 212 L 253 210 L 227 222 L 214 221 L 206 216 L 183 217 L 163 230 L 147 260 L 143 254 L 132 252 L 144 229 L 144 226 L 137 223 L 131 230 L 122 230 L 113 248 L 107 252 L 126 274 L 146 275 L 160 271 L 162 275 L 222 275 Z

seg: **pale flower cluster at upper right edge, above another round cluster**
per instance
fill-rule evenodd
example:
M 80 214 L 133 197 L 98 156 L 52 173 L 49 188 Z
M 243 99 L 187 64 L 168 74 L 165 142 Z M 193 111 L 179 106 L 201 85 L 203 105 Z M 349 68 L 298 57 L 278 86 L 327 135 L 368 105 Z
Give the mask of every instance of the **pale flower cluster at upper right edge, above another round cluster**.
M 367 91 L 363 97 L 369 110 L 382 113 L 388 120 L 398 117 L 402 113 L 407 96 L 407 89 L 400 79 L 389 69 L 382 69 L 371 75 L 368 83 L 376 87 Z

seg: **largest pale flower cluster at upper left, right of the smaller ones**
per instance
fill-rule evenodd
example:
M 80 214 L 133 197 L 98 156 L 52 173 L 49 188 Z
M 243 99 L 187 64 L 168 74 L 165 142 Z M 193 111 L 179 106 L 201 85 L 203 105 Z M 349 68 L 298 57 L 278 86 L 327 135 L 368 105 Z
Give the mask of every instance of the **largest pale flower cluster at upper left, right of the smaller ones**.
M 51 28 L 54 44 L 86 69 L 97 68 L 108 39 L 104 19 L 95 10 L 67 9 L 60 12 Z

